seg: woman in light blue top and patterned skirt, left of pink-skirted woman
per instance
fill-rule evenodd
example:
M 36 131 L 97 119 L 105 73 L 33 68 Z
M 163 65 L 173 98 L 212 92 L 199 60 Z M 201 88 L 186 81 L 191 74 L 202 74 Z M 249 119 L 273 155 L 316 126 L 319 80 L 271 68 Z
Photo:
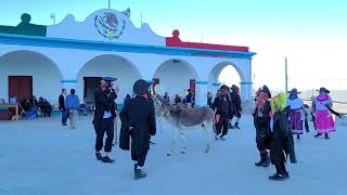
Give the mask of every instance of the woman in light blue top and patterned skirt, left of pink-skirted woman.
M 300 134 L 304 132 L 305 107 L 304 101 L 298 98 L 299 92 L 296 88 L 290 91 L 290 96 L 286 101 L 288 127 L 293 134 L 296 134 L 297 140 L 300 140 Z

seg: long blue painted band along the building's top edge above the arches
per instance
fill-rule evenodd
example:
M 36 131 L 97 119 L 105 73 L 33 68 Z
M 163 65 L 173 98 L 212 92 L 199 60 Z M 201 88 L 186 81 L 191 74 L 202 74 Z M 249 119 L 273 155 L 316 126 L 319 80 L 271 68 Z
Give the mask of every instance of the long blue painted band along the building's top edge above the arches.
M 252 60 L 256 53 L 0 34 L 0 44 Z

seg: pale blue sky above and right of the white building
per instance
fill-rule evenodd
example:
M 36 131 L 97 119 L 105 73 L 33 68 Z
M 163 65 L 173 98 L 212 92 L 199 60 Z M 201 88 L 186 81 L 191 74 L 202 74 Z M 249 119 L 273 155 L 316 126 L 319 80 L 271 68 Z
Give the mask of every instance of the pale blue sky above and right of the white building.
M 0 24 L 16 25 L 22 13 L 33 23 L 52 24 L 72 13 L 83 21 L 107 0 L 0 0 Z M 284 56 L 290 62 L 290 87 L 325 86 L 347 89 L 347 1 L 344 0 L 113 0 L 112 8 L 131 9 L 160 36 L 172 29 L 190 41 L 242 44 L 254 57 L 255 87 L 283 88 Z

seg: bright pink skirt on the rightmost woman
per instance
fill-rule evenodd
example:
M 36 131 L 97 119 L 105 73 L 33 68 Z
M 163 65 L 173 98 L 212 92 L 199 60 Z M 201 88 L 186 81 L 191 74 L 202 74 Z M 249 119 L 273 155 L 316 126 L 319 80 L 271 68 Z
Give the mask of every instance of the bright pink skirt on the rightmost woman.
M 316 128 L 322 134 L 335 131 L 335 122 L 329 110 L 316 112 Z

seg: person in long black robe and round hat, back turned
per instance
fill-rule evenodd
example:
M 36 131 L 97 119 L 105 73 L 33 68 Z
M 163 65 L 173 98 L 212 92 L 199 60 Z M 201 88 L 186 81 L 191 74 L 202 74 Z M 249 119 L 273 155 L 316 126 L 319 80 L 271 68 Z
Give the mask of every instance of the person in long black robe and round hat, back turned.
M 131 159 L 134 161 L 134 179 L 146 177 L 142 170 L 150 150 L 151 135 L 156 133 L 154 102 L 150 100 L 149 84 L 145 80 L 138 80 L 133 84 L 137 94 L 120 112 L 121 131 L 119 146 L 129 150 L 131 136 Z M 127 145 L 128 144 L 128 145 Z

